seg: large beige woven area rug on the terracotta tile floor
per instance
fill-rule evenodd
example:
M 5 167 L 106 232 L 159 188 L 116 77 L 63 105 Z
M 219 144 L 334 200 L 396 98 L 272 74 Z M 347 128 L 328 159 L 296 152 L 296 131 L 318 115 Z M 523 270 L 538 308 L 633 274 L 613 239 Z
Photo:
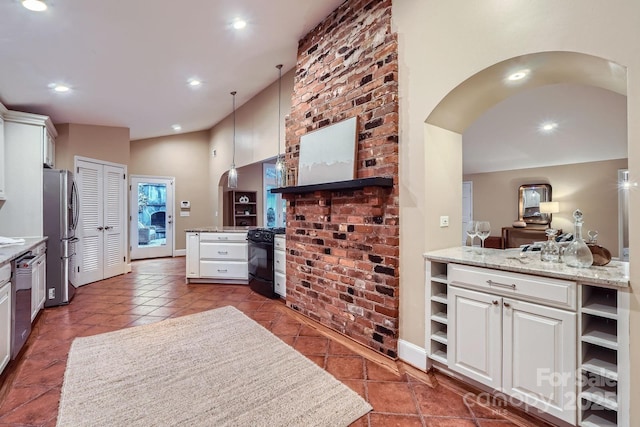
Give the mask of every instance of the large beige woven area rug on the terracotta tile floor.
M 347 426 L 357 393 L 233 307 L 73 341 L 58 426 Z

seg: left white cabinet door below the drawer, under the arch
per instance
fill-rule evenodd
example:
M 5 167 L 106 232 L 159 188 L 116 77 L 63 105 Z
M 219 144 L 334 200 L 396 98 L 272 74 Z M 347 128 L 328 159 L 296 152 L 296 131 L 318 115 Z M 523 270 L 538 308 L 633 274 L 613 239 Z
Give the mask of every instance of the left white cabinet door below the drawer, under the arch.
M 502 386 L 502 298 L 450 286 L 447 364 L 492 388 Z

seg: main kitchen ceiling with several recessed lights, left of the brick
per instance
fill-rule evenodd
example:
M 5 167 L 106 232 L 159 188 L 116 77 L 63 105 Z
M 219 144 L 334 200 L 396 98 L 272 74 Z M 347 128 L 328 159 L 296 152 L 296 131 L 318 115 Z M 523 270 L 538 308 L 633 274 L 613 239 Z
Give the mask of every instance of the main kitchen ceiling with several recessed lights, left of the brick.
M 0 2 L 0 102 L 135 140 L 211 128 L 231 91 L 240 106 L 277 80 L 277 64 L 293 68 L 298 40 L 344 0 L 45 1 L 44 12 Z

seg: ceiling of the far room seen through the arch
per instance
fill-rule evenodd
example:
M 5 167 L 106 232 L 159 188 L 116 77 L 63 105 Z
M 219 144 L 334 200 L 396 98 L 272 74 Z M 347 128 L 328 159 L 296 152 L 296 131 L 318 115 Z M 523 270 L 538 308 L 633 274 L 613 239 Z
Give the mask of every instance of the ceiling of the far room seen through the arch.
M 462 144 L 465 174 L 623 159 L 627 97 L 574 83 L 527 89 L 486 110 Z

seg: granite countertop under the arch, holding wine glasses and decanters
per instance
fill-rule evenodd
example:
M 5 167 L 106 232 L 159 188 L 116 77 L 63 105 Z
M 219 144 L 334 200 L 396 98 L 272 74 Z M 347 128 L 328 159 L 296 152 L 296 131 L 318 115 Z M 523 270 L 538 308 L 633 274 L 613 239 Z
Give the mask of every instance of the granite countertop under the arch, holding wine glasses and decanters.
M 520 249 L 481 249 L 460 246 L 423 255 L 430 261 L 474 265 L 515 273 L 535 274 L 557 279 L 575 280 L 579 283 L 629 287 L 629 263 L 611 261 L 609 264 L 589 268 L 569 267 L 564 263 L 549 263 L 540 260 L 540 252 L 522 252 Z

